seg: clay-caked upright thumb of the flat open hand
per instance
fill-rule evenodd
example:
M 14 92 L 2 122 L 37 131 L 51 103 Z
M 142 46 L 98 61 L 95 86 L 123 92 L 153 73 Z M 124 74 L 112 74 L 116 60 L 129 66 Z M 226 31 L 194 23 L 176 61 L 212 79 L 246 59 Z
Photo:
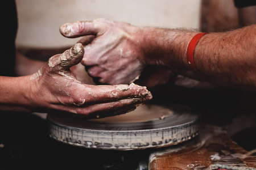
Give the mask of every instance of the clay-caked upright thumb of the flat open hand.
M 49 58 L 48 65 L 55 71 L 64 71 L 81 62 L 83 56 L 84 48 L 81 43 L 77 43 L 64 53 Z

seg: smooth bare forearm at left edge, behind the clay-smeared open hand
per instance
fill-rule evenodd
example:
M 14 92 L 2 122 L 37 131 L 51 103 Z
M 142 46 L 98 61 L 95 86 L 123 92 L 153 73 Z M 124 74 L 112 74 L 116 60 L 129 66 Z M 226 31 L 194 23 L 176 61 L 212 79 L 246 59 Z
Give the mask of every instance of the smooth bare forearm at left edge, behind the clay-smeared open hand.
M 26 94 L 29 93 L 29 76 L 0 76 L 0 110 L 30 112 Z

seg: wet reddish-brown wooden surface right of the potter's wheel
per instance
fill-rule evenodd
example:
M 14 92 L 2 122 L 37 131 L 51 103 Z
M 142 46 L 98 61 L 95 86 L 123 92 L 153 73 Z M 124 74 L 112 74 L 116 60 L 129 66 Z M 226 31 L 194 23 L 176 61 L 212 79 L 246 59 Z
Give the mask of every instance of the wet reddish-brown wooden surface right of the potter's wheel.
M 218 126 L 201 126 L 199 137 L 181 145 L 153 152 L 150 170 L 210 169 L 211 165 L 256 168 L 256 156 L 234 142 Z

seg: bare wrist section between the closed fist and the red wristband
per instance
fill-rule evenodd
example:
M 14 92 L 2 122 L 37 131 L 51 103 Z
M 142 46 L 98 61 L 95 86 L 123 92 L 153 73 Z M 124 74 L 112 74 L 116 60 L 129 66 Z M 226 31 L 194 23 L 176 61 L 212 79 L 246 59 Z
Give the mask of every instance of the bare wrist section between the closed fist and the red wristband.
M 153 27 L 144 27 L 142 32 L 140 45 L 144 58 L 141 60 L 146 65 L 166 65 L 178 74 L 195 78 L 186 53 L 189 41 L 198 32 Z

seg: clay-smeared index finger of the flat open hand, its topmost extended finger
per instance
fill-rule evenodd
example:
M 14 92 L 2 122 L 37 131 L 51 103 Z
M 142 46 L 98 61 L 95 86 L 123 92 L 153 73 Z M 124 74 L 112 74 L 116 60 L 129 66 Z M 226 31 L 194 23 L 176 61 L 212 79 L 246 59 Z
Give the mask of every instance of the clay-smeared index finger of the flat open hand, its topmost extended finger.
M 134 101 L 144 102 L 152 99 L 151 92 L 146 87 L 136 84 L 118 84 L 114 86 L 101 85 L 93 86 L 88 84 L 72 85 L 77 89 L 72 99 L 68 98 L 66 104 L 77 106 L 92 105 L 96 103 L 108 103 L 122 99 L 133 99 Z

